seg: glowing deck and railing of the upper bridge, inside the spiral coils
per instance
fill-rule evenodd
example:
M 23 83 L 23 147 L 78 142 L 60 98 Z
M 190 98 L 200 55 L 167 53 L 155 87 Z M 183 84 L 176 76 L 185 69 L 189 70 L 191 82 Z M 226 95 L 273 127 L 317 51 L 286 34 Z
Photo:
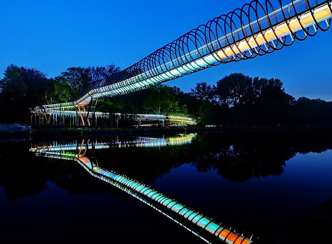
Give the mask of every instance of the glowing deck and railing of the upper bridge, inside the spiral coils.
M 271 16 L 277 13 L 284 13 L 287 9 L 295 11 L 293 9 L 295 7 L 293 6 L 304 4 L 304 2 L 304 0 L 292 1 L 292 3 L 260 18 L 259 21 L 268 20 Z M 314 3 L 316 4 L 317 2 Z M 332 1 L 323 1 L 321 4 L 313 6 L 310 9 L 308 5 L 308 9 L 301 13 L 300 16 L 294 13 L 292 16 L 289 16 L 287 20 L 275 23 L 273 26 L 270 26 L 265 30 L 258 29 L 255 33 L 250 33 L 250 27 L 258 26 L 258 20 L 252 21 L 248 25 L 234 30 L 218 40 L 207 43 L 202 47 L 198 47 L 196 50 L 185 54 L 182 57 L 177 57 L 176 59 L 161 64 L 160 66 L 145 70 L 143 73 L 124 79 L 123 81 L 93 89 L 76 102 L 44 105 L 42 108 L 35 108 L 35 111 L 55 108 L 75 109 L 78 106 L 85 107 L 93 99 L 119 96 L 138 91 L 158 83 L 170 81 L 182 77 L 183 75 L 205 69 L 214 65 L 216 62 L 221 63 L 225 60 L 232 61 L 232 59 L 236 59 L 239 55 L 244 56 L 244 53 L 247 51 L 250 52 L 250 50 L 255 50 L 256 47 L 272 45 L 275 40 L 280 40 L 287 35 L 292 37 L 293 33 L 304 30 L 309 26 L 314 26 L 321 21 L 331 19 L 331 3 Z M 249 32 L 248 36 L 244 36 L 241 40 L 232 40 L 236 33 L 240 34 L 247 29 Z M 229 39 L 233 42 L 228 43 Z M 216 43 L 224 43 L 225 46 L 215 50 L 213 46 Z M 213 49 L 213 51 L 210 49 Z M 200 52 L 206 54 L 198 57 Z M 135 66 L 135 64 L 133 66 Z

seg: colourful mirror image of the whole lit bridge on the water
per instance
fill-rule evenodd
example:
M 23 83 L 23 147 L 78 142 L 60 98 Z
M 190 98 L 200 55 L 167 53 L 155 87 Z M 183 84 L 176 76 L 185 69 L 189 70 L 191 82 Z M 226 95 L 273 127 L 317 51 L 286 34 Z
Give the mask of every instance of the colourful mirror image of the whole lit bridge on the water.
M 180 203 L 177 200 L 158 192 L 145 183 L 140 183 L 135 179 L 120 175 L 112 170 L 104 169 L 98 165 L 98 162 L 94 157 L 95 149 L 130 146 L 171 146 L 191 143 L 195 137 L 196 134 L 191 133 L 163 138 L 136 137 L 136 140 L 133 141 L 121 142 L 115 140 L 111 143 L 92 142 L 90 140 L 84 142 L 84 140 L 82 140 L 81 144 L 36 146 L 31 147 L 30 151 L 37 156 L 78 162 L 92 176 L 125 191 L 127 194 L 162 213 L 175 223 L 183 226 L 192 234 L 207 243 L 215 243 L 216 241 L 222 241 L 227 244 L 252 243 L 252 235 L 250 238 L 245 237 L 243 233 L 239 233 L 236 230 L 232 230 L 231 228 L 212 220 L 212 218 L 199 213 L 184 203 Z M 92 157 L 88 157 L 87 152 L 89 152 L 89 155 L 92 155 Z M 169 214 L 169 210 L 172 214 Z

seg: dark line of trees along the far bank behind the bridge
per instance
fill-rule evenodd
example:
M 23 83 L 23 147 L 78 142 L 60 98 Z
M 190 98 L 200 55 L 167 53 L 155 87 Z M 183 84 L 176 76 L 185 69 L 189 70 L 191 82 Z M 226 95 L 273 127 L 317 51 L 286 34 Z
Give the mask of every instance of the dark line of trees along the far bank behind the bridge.
M 55 78 L 28 67 L 10 64 L 0 79 L 0 123 L 30 124 L 31 109 L 45 104 L 72 102 L 85 87 L 108 82 L 121 71 L 108 66 L 69 67 Z M 279 79 L 232 73 L 215 84 L 196 83 L 190 92 L 159 84 L 134 93 L 100 99 L 105 113 L 187 113 L 199 125 L 276 126 L 331 125 L 332 102 L 285 92 Z

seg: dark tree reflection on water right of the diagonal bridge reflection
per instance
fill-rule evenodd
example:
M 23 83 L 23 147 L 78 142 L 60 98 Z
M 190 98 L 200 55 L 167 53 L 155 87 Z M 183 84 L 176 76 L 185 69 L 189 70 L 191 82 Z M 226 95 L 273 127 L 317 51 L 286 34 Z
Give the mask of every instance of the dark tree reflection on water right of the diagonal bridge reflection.
M 331 149 L 331 129 L 223 131 L 198 134 L 188 145 L 110 148 L 98 151 L 97 158 L 103 162 L 101 166 L 142 182 L 162 178 L 184 163 L 191 163 L 200 172 L 216 169 L 225 179 L 244 182 L 281 175 L 296 153 L 327 149 Z

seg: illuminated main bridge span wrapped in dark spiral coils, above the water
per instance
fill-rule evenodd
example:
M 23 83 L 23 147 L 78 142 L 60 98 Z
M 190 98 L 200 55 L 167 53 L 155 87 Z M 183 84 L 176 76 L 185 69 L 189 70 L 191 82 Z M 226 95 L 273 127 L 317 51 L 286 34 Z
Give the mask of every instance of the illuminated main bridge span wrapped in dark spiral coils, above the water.
M 269 54 L 330 28 L 332 0 L 287 2 L 252 0 L 187 32 L 110 79 L 91 83 L 76 101 L 46 104 L 34 112 L 78 110 L 85 116 L 81 109 L 90 112 L 98 99 L 136 92 L 221 63 Z

